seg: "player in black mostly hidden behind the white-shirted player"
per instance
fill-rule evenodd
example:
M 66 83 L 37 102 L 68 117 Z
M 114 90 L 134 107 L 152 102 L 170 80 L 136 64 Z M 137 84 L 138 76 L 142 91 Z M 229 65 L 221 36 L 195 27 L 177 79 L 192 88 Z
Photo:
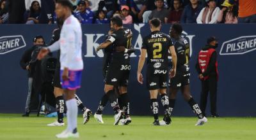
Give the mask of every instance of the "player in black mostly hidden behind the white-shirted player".
M 60 19 L 57 19 L 57 24 L 58 28 L 54 29 L 52 33 L 52 39 L 50 45 L 55 43 L 60 39 L 60 32 L 61 32 L 61 27 L 63 25 L 63 21 Z M 61 87 L 61 81 L 60 81 L 60 50 L 58 50 L 58 56 L 57 56 L 57 64 L 56 64 L 56 69 L 54 73 L 54 96 L 56 98 L 56 111 L 58 114 L 58 120 L 53 123 L 49 123 L 47 126 L 54 127 L 54 126 L 64 126 L 65 123 L 63 121 L 63 113 L 66 111 L 66 106 L 65 106 L 65 101 L 63 98 L 63 89 Z M 76 95 L 76 102 L 77 106 L 81 111 L 83 112 L 83 124 L 87 123 L 90 119 L 90 115 L 92 114 L 92 111 L 90 109 L 86 108 L 83 105 L 83 102 L 79 99 L 79 97 Z

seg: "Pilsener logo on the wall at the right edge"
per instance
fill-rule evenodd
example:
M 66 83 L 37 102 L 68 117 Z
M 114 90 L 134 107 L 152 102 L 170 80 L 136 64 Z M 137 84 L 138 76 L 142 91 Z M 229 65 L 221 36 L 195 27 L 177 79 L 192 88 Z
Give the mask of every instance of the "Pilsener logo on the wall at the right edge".
M 256 36 L 241 36 L 225 41 L 221 46 L 220 55 L 243 55 L 256 50 Z

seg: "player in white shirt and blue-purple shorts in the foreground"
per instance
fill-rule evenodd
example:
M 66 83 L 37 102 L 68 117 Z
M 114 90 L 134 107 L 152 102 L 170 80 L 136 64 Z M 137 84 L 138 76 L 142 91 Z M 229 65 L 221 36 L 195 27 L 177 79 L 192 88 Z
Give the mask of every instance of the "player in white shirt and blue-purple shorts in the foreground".
M 72 15 L 72 4 L 68 0 L 56 1 L 57 18 L 64 21 L 60 39 L 47 48 L 42 48 L 38 59 L 47 53 L 61 50 L 60 52 L 60 80 L 64 90 L 67 106 L 67 129 L 57 134 L 58 138 L 79 137 L 77 132 L 77 103 L 75 93 L 81 86 L 83 71 L 82 58 L 82 29 L 79 21 Z

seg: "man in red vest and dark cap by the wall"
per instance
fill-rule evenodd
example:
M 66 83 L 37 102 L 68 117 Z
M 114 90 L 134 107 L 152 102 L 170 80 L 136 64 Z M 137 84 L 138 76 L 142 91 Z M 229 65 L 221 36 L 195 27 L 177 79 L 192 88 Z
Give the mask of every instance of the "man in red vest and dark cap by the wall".
M 200 97 L 200 108 L 205 115 L 208 93 L 210 92 L 211 115 L 218 117 L 216 113 L 217 101 L 217 81 L 218 81 L 218 62 L 216 60 L 218 41 L 214 36 L 207 39 L 207 45 L 198 54 L 196 71 L 202 81 L 202 92 Z

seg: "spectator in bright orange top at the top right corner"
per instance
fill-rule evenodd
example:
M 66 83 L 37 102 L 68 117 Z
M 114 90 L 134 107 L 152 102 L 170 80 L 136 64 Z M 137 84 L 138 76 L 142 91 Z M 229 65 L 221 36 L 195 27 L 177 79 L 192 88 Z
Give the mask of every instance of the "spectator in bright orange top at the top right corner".
M 238 23 L 256 23 L 255 0 L 239 0 Z

